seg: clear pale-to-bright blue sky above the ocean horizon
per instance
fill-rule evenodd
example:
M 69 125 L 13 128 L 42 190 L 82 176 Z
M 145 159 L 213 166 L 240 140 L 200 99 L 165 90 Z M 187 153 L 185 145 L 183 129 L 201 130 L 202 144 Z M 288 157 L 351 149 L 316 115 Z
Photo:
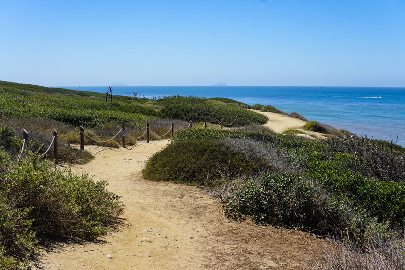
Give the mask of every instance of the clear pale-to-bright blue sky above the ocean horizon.
M 2 1 L 0 80 L 405 87 L 405 1 Z

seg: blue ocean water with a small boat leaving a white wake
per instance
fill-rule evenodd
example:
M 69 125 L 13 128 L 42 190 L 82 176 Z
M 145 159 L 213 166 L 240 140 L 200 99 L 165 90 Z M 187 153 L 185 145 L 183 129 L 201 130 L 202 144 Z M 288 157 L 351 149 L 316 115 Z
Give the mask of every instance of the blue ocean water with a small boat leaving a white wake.
M 107 92 L 108 86 L 64 87 Z M 253 105 L 272 105 L 287 113 L 347 129 L 369 138 L 397 140 L 405 146 L 405 88 L 298 86 L 114 86 L 113 95 L 137 93 L 157 98 L 169 95 L 226 97 Z M 378 98 L 380 97 L 381 98 Z

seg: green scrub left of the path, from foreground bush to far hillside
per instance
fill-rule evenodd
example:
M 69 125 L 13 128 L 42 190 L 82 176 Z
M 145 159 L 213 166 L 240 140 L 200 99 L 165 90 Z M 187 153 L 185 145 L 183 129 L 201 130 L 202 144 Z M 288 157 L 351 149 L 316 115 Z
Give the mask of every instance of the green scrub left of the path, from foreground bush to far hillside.
M 190 120 L 230 123 L 238 116 L 239 125 L 267 120 L 230 99 L 172 96 L 152 101 L 113 96 L 111 102 L 105 94 L 4 81 L 0 81 L 0 100 L 1 269 L 26 268 L 45 239 L 95 239 L 124 211 L 119 197 L 106 190 L 106 182 L 53 166 L 46 160 L 53 159 L 53 147 L 41 156 L 52 141 L 53 129 L 58 131 L 59 162 L 85 163 L 93 158 L 90 153 L 70 145 L 79 143 L 80 125 L 85 127 L 85 144 L 118 147 L 120 136 L 107 143 L 95 140 L 108 140 L 122 125 L 127 134 L 138 137 L 147 122 L 151 139 L 159 139 L 172 123 L 177 132 L 186 129 Z M 23 128 L 29 132 L 29 146 L 21 152 Z M 129 136 L 126 144 L 134 145 L 136 140 Z M 225 161 L 226 150 L 214 156 Z M 250 164 L 241 162 L 237 167 Z

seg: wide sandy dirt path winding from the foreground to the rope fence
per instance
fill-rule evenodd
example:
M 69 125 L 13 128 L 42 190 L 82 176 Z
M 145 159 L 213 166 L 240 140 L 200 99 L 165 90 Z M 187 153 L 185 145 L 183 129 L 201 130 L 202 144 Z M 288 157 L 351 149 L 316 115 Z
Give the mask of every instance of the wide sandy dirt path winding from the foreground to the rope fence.
M 95 159 L 76 173 L 105 179 L 125 204 L 119 229 L 97 243 L 61 244 L 33 269 L 306 269 L 321 240 L 301 231 L 229 221 L 198 188 L 141 178 L 167 140 L 125 149 L 86 146 Z

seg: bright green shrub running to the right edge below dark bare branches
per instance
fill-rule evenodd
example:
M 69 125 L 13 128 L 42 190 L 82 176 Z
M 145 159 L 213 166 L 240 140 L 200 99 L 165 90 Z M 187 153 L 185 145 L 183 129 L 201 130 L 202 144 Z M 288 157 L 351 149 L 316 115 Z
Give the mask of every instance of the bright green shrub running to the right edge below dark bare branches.
M 322 159 L 313 153 L 306 176 L 317 179 L 331 193 L 345 196 L 354 205 L 372 213 L 379 222 L 405 226 L 405 183 L 366 178 L 353 172 L 361 160 L 347 153 Z

